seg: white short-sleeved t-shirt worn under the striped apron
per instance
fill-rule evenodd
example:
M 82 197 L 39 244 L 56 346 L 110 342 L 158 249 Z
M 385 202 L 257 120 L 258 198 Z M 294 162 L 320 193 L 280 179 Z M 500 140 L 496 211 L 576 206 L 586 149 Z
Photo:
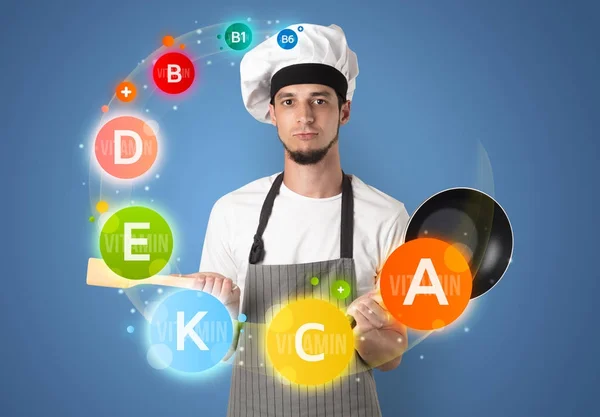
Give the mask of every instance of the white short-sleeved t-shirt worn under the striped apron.
M 267 193 L 279 173 L 255 180 L 214 204 L 200 271 L 231 278 L 242 291 L 248 257 Z M 352 176 L 358 295 L 374 288 L 387 257 L 401 245 L 409 215 L 400 201 Z M 263 265 L 300 264 L 340 257 L 342 194 L 311 198 L 281 184 L 263 234 Z

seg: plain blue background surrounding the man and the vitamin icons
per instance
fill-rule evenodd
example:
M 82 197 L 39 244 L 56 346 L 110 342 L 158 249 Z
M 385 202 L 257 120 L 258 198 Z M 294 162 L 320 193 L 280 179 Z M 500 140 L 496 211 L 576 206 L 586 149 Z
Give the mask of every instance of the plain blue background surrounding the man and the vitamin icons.
M 143 322 L 131 302 L 86 286 L 96 248 L 82 182 L 100 106 L 164 34 L 248 16 L 345 30 L 361 70 L 341 130 L 347 172 L 412 212 L 447 187 L 490 187 L 465 168 L 479 141 L 512 221 L 514 262 L 476 311 L 377 373 L 384 416 L 595 414 L 597 2 L 233 3 L 3 2 L 0 415 L 225 414 L 226 371 L 187 380 L 150 368 L 141 333 L 125 330 Z M 198 268 L 216 198 L 282 166 L 274 129 L 243 108 L 238 66 L 204 79 L 160 120 L 168 155 L 151 188 L 184 272 Z

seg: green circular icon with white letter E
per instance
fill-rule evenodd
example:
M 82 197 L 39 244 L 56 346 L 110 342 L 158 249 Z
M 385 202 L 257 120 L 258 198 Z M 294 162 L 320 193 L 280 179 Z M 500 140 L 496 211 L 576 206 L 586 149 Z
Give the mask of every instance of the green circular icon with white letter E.
M 171 228 L 160 214 L 146 207 L 117 211 L 100 233 L 100 253 L 117 275 L 144 279 L 159 273 L 173 252 Z

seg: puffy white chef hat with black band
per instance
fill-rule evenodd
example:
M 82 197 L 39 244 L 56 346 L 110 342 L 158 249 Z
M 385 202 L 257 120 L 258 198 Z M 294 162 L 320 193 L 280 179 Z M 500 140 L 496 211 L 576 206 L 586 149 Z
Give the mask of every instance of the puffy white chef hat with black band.
M 358 60 L 342 28 L 298 24 L 287 29 L 297 36 L 293 48 L 282 48 L 278 37 L 271 36 L 248 51 L 240 63 L 244 106 L 263 123 L 270 123 L 269 103 L 287 85 L 327 85 L 346 100 L 352 100 L 356 89 Z

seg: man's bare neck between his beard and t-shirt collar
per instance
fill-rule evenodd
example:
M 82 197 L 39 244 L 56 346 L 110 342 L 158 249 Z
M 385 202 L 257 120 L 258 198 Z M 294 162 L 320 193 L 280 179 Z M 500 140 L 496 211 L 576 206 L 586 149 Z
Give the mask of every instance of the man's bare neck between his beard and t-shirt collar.
M 299 165 L 286 153 L 284 172 L 283 183 L 296 194 L 328 198 L 342 192 L 342 167 L 339 153 L 334 149 L 314 165 Z

